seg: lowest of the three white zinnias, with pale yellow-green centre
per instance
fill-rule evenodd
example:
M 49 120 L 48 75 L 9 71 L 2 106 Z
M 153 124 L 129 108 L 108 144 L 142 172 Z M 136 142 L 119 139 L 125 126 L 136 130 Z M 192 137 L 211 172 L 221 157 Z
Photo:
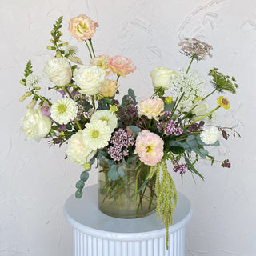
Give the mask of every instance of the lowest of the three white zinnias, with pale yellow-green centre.
M 86 146 L 92 150 L 101 149 L 108 145 L 111 138 L 111 129 L 106 121 L 98 120 L 86 124 L 82 130 L 82 139 Z

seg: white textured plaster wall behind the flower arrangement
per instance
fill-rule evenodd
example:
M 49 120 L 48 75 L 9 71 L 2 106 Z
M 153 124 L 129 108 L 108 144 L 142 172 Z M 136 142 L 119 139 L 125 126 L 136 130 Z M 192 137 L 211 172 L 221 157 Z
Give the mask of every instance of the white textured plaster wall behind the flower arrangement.
M 46 140 L 24 141 L 20 119 L 26 104 L 19 84 L 27 60 L 40 74 L 50 56 L 52 24 L 64 16 L 67 42 L 86 47 L 71 38 L 71 17 L 87 14 L 100 27 L 94 36 L 98 54 L 122 54 L 138 67 L 122 79 L 122 92 L 134 88 L 139 98 L 150 96 L 150 71 L 156 66 L 173 70 L 186 67 L 178 52 L 180 38 L 196 37 L 214 46 L 214 58 L 194 64 L 203 78 L 218 66 L 234 75 L 240 88 L 229 96 L 231 109 L 220 111 L 226 126 L 238 123 L 240 139 L 223 142 L 214 154 L 230 158 L 232 168 L 201 164 L 206 182 L 187 174 L 178 190 L 190 199 L 193 218 L 186 228 L 186 256 L 256 255 L 256 2 L 255 0 L 1 0 L 1 147 L 0 147 L 0 256 L 71 255 L 71 228 L 62 206 L 74 193 L 81 169 L 64 160 L 64 148 L 49 149 Z M 46 86 L 49 86 L 47 84 Z M 28 103 L 28 102 L 27 102 Z M 221 155 L 220 155 L 221 154 Z M 224 156 L 222 156 L 224 154 Z M 92 171 L 88 185 L 97 182 Z

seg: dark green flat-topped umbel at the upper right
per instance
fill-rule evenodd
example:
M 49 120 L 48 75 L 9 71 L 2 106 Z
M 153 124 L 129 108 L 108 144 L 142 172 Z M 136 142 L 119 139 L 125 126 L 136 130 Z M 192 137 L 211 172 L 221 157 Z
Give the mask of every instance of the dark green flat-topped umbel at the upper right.
M 216 67 L 209 71 L 209 75 L 213 77 L 211 83 L 218 92 L 226 90 L 230 91 L 232 94 L 236 93 L 238 84 L 235 83 L 236 80 L 234 77 L 230 78 L 229 75 L 224 75 L 221 72 L 218 72 L 218 68 Z

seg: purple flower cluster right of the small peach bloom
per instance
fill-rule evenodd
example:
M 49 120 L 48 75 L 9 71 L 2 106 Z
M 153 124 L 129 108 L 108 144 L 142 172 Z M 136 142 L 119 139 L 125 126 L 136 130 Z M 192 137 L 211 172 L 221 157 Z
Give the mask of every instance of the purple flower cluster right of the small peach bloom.
M 170 119 L 170 111 L 166 111 L 161 117 L 161 121 L 158 122 L 158 130 L 163 129 L 163 133 L 166 135 L 175 134 L 176 136 L 182 134 L 182 127 L 177 125 L 173 119 Z

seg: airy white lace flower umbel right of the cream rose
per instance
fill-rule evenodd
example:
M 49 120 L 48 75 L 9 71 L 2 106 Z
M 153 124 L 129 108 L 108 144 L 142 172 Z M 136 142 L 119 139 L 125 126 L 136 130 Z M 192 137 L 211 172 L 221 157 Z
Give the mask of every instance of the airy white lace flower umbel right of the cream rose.
M 192 70 L 186 74 L 185 70 L 180 70 L 177 76 L 171 81 L 170 89 L 174 90 L 177 97 L 181 97 L 182 102 L 193 102 L 198 97 L 205 94 L 205 84 L 199 78 L 196 71 Z

